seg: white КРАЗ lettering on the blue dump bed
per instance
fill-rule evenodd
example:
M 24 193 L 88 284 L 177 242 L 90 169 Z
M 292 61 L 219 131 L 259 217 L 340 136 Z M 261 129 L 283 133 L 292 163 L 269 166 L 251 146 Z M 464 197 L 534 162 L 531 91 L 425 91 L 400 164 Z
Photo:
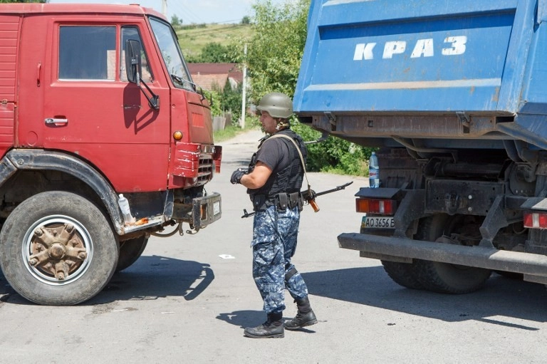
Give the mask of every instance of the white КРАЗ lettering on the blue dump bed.
M 443 56 L 457 56 L 466 51 L 467 36 L 449 36 L 444 38 L 444 48 L 441 49 Z M 353 61 L 368 61 L 374 59 L 374 48 L 377 43 L 359 43 L 355 46 Z M 448 47 L 446 47 L 448 45 Z M 406 41 L 387 41 L 384 45 L 383 59 L 394 58 L 407 50 Z M 410 58 L 434 56 L 434 43 L 432 38 L 418 39 Z

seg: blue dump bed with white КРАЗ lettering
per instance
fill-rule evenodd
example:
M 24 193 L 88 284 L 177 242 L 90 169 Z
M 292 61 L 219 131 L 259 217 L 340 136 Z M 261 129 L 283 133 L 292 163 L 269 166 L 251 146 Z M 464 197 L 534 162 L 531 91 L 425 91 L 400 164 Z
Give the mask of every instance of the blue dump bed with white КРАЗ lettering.
M 348 139 L 547 147 L 546 8 L 545 0 L 312 0 L 295 111 Z

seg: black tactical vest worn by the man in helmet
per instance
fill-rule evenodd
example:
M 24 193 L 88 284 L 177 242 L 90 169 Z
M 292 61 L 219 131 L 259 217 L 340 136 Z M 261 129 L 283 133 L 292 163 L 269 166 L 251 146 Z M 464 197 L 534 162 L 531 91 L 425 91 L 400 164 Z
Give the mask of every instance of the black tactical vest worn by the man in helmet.
M 298 145 L 299 149 L 302 152 L 304 161 L 306 161 L 306 145 L 304 145 L 304 142 L 300 135 L 296 134 L 296 132 L 293 132 L 290 129 L 281 130 L 279 132 L 276 132 L 276 135 L 277 134 L 284 134 L 288 137 L 291 137 Z M 289 151 L 288 158 L 290 162 L 288 163 L 288 165 L 286 165 L 286 167 L 283 168 L 283 170 L 272 171 L 272 174 L 270 175 L 264 186 L 257 189 L 247 189 L 247 193 L 251 197 L 251 201 L 253 202 L 253 207 L 255 211 L 265 209 L 266 207 L 270 207 L 275 204 L 275 197 L 277 194 L 291 194 L 293 192 L 300 192 L 300 189 L 302 187 L 304 170 L 296 147 L 291 142 L 291 140 L 287 140 L 283 137 L 278 138 L 278 140 L 280 140 L 287 146 Z M 264 142 L 267 141 L 268 139 L 265 139 L 260 143 L 259 150 Z M 254 170 L 254 167 L 256 166 L 257 154 L 258 151 L 256 151 L 251 158 L 251 163 L 249 164 L 249 172 Z

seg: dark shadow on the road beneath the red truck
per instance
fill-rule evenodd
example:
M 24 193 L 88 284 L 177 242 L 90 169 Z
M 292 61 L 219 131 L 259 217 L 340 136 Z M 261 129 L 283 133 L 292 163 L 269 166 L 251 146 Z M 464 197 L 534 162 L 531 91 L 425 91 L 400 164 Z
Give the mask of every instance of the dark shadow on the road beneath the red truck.
M 94 306 L 114 301 L 155 300 L 166 296 L 197 298 L 214 280 L 209 264 L 184 261 L 165 256 L 141 256 L 129 268 L 114 274 L 103 291 L 81 306 Z M 19 296 L 0 274 L 0 301 L 32 305 Z

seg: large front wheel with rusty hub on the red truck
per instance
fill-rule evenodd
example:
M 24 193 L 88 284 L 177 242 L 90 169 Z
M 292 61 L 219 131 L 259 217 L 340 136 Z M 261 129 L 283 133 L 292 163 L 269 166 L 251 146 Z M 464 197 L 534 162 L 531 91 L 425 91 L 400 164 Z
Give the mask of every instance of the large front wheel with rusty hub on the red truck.
M 108 284 L 118 241 L 103 212 L 69 192 L 43 192 L 21 202 L 0 232 L 0 266 L 24 298 L 74 305 Z

